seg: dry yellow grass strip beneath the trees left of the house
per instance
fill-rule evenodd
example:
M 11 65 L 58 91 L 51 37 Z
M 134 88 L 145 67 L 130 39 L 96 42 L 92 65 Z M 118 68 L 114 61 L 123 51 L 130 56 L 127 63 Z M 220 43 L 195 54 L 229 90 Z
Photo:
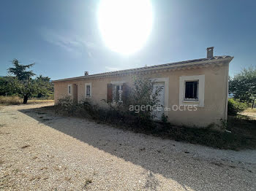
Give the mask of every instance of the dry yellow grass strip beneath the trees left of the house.
M 44 99 L 36 99 L 31 98 L 28 100 L 28 104 L 42 104 L 42 103 L 50 103 L 53 102 L 53 100 L 44 100 Z M 18 105 L 23 104 L 23 98 L 20 98 L 18 95 L 12 95 L 12 96 L 0 96 L 0 104 L 2 105 Z

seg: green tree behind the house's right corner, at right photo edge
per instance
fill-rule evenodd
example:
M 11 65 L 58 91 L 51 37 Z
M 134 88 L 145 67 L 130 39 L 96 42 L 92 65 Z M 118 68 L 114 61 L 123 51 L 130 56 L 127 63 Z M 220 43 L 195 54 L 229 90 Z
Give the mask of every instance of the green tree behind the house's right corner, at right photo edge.
M 252 102 L 253 106 L 256 98 L 256 67 L 243 69 L 235 77 L 230 78 L 229 90 L 234 98 Z

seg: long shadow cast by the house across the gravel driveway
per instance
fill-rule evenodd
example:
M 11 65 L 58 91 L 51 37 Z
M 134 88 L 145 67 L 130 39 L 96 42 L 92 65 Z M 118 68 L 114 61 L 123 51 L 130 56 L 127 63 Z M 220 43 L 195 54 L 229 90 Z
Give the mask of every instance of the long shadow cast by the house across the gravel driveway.
M 145 168 L 149 171 L 145 184 L 148 190 L 157 190 L 161 184 L 154 174 L 175 180 L 184 190 L 239 190 L 234 184 L 241 181 L 252 184 L 244 176 L 237 176 L 247 174 L 252 177 L 246 169 L 234 165 L 230 167 L 229 161 L 202 159 L 189 150 L 184 152 L 184 149 L 178 149 L 175 141 L 112 128 L 86 119 L 56 116 L 47 107 L 19 112 L 110 155 Z M 238 172 L 234 174 L 233 171 Z

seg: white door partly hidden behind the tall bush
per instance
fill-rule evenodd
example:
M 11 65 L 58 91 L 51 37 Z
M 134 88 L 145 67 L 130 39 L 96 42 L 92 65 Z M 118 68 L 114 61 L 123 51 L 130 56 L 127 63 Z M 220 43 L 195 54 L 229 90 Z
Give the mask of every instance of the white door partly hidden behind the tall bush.
M 155 120 L 161 120 L 162 114 L 165 112 L 165 82 L 154 82 L 153 92 L 155 93 L 158 88 L 161 91 L 158 95 L 158 106 Z

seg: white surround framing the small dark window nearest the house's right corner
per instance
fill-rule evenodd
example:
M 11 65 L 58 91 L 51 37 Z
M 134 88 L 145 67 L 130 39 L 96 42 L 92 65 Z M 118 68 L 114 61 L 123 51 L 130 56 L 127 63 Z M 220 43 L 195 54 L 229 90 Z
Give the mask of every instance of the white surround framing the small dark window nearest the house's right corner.
M 198 81 L 197 97 L 198 99 L 185 99 L 186 82 Z M 204 106 L 205 99 L 205 75 L 181 76 L 179 77 L 179 105 Z

